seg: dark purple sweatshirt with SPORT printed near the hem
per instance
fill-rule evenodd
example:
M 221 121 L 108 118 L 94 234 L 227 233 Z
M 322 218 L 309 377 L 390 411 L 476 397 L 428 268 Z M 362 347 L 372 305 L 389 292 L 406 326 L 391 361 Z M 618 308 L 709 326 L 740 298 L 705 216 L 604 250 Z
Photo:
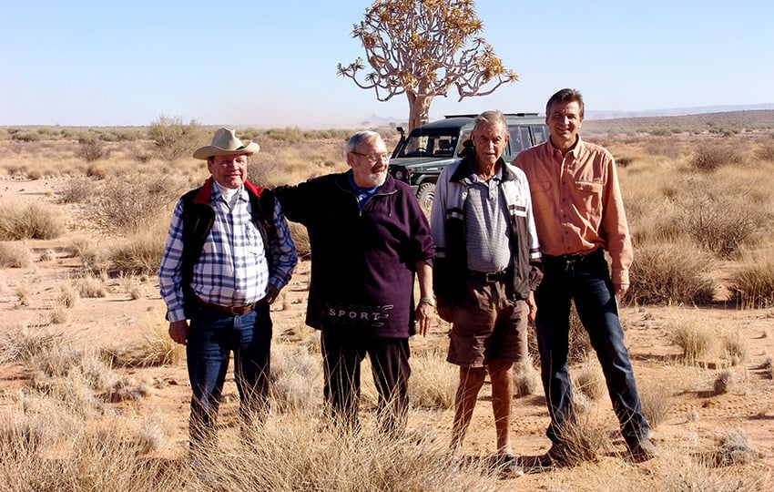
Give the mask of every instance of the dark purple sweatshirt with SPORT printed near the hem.
M 349 173 L 274 190 L 285 217 L 309 231 L 306 323 L 408 337 L 414 323 L 415 264 L 432 266 L 435 256 L 430 227 L 412 189 L 391 176 L 361 210 Z

